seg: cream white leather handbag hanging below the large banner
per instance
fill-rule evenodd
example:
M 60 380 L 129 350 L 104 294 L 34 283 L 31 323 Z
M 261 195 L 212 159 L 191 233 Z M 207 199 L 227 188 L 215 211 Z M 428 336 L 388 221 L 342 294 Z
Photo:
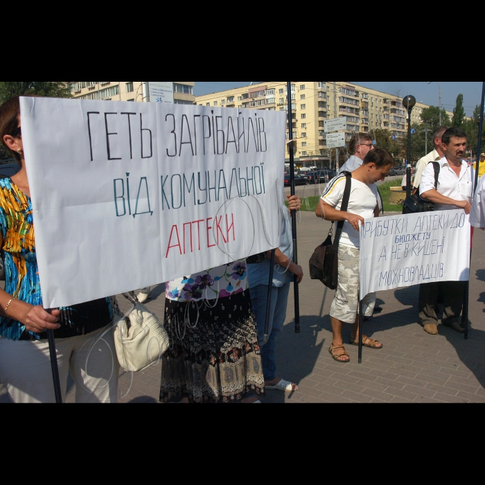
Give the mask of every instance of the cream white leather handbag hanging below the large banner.
M 158 363 L 169 346 L 159 319 L 143 306 L 134 293 L 124 294 L 133 305 L 125 316 L 115 317 L 114 345 L 118 362 L 125 371 L 141 371 Z

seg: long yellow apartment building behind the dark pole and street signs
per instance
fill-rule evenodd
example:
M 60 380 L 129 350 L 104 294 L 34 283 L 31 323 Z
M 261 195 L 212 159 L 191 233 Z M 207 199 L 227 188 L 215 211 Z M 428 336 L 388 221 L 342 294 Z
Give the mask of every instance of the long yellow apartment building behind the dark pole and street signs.
M 297 166 L 328 166 L 326 148 L 326 119 L 346 116 L 346 139 L 355 132 L 389 130 L 404 136 L 407 111 L 402 98 L 354 85 L 349 82 L 296 81 L 291 85 L 292 134 L 296 139 Z M 197 96 L 197 105 L 249 109 L 270 109 L 288 112 L 286 82 L 261 82 L 227 91 Z M 428 107 L 416 103 L 412 123 L 420 123 L 420 114 Z M 452 113 L 448 113 L 452 116 Z M 288 121 L 286 138 L 289 136 Z M 289 157 L 287 153 L 287 158 Z

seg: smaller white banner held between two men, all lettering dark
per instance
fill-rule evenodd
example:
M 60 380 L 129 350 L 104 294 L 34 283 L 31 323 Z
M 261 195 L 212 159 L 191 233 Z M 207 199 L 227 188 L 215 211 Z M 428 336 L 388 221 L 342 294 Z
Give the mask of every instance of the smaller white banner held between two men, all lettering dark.
M 470 278 L 470 222 L 462 209 L 387 215 L 360 227 L 360 299 L 375 291 Z

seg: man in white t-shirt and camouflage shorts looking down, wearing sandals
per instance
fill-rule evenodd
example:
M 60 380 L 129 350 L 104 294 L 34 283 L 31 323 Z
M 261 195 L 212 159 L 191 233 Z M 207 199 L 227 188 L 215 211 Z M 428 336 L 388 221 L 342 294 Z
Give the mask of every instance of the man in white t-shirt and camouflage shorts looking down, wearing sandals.
M 359 223 L 364 219 L 378 217 L 378 193 L 376 182 L 384 180 L 394 166 L 394 159 L 384 148 L 371 150 L 351 175 L 351 193 L 347 211 L 340 211 L 346 184 L 345 173 L 335 177 L 321 194 L 316 214 L 325 220 L 344 220 L 339 244 L 338 283 L 335 298 L 330 308 L 333 341 L 328 351 L 337 362 L 349 362 L 342 340 L 342 325 L 353 324 L 350 343 L 358 345 L 358 303 L 359 303 Z M 364 297 L 364 314 L 372 315 L 376 294 Z M 377 340 L 362 335 L 362 343 L 371 349 L 382 349 Z

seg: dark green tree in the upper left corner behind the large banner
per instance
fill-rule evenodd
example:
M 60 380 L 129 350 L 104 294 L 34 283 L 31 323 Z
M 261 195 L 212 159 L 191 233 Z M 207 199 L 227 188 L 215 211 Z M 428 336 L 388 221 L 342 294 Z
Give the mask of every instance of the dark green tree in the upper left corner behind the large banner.
M 63 81 L 0 81 L 0 104 L 13 96 L 32 95 L 49 98 L 70 98 L 71 92 Z M 0 160 L 12 158 L 12 154 L 0 143 Z

